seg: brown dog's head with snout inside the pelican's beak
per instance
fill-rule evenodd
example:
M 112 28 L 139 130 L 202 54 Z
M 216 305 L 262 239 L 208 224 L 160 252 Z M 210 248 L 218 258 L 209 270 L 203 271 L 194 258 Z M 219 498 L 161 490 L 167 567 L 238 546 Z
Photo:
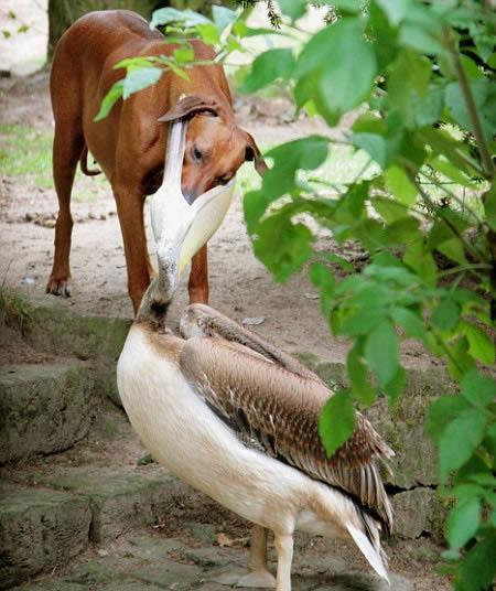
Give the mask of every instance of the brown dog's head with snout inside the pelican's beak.
M 182 191 L 188 203 L 228 183 L 246 161 L 254 161 L 259 174 L 266 170 L 254 138 L 237 127 L 233 115 L 214 98 L 186 96 L 159 121 L 184 118 L 191 118 L 182 171 Z

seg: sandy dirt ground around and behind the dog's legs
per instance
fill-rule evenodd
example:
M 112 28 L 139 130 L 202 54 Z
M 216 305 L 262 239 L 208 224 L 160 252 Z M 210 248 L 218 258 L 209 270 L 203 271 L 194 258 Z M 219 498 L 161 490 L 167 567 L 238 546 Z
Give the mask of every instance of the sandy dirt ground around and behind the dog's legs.
M 1 100 L 1 122 L 32 128 L 28 141 L 53 127 L 47 73 L 8 80 Z M 271 146 L 306 133 L 322 131 L 316 120 L 288 120 L 288 104 L 282 99 L 242 99 L 237 101 L 238 120 L 262 146 Z M 335 130 L 335 133 L 342 131 Z M 0 148 L 6 137 L 0 133 Z M 251 166 L 250 163 L 244 165 Z M 1 168 L 1 161 L 0 161 Z M 322 321 L 319 298 L 306 271 L 285 284 L 278 284 L 255 257 L 247 236 L 241 206 L 246 179 L 254 182 L 251 170 L 240 171 L 238 195 L 219 232 L 209 243 L 211 303 L 238 321 L 258 323 L 257 331 L 289 352 L 310 351 L 330 361 L 341 361 L 345 343 L 332 339 Z M 255 181 L 256 182 L 256 181 Z M 83 194 L 84 198 L 78 196 Z M 34 302 L 61 305 L 75 312 L 110 316 L 131 316 L 127 296 L 126 261 L 116 205 L 109 184 L 101 178 L 77 173 L 72 201 L 75 219 L 71 266 L 73 297 L 45 294 L 52 257 L 57 200 L 52 187 L 30 179 L 1 176 L 0 181 L 0 279 L 26 292 Z M 149 214 L 145 212 L 149 229 Z M 335 249 L 332 237 L 317 230 L 320 248 Z M 149 236 L 153 256 L 153 240 Z M 362 252 L 353 245 L 339 250 L 357 265 Z M 182 278 L 171 318 L 179 316 L 186 303 L 187 272 Z M 405 347 L 407 365 L 425 361 L 414 344 Z

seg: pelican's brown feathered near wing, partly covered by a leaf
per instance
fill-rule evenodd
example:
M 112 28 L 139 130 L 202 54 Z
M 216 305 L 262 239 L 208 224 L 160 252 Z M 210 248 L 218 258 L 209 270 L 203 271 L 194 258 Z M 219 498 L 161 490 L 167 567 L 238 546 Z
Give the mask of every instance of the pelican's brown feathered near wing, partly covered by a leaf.
M 392 455 L 357 415 L 355 433 L 328 459 L 317 432 L 332 393 L 259 353 L 219 337 L 192 337 L 180 355 L 195 391 L 245 440 L 314 480 L 338 487 L 391 527 L 392 511 L 376 460 Z

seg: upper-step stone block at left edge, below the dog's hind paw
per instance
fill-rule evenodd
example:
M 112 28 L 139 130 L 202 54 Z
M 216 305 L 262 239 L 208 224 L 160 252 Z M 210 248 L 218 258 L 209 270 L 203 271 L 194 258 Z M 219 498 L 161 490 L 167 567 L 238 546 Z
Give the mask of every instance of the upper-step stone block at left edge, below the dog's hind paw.
M 0 463 L 74 445 L 90 427 L 95 389 L 79 361 L 0 367 Z

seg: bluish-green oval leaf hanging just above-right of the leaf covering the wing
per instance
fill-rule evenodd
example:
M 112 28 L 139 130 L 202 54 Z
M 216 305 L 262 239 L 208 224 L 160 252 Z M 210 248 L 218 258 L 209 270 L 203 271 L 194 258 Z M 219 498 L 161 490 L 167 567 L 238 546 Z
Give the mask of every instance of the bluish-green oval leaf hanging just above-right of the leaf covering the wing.
M 365 345 L 368 366 L 376 374 L 380 387 L 385 387 L 399 367 L 399 342 L 390 322 L 382 322 L 368 335 Z

